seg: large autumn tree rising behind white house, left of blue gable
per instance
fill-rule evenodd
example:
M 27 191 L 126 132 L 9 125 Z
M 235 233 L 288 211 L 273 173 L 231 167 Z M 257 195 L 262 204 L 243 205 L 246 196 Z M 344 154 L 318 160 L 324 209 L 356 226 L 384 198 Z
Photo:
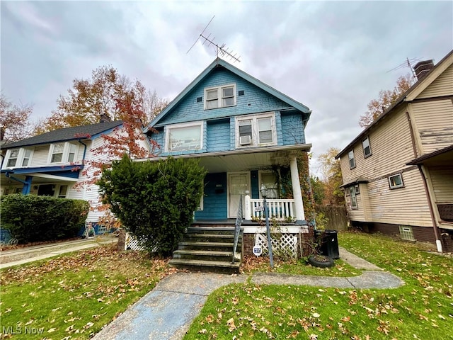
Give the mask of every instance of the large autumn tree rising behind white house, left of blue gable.
M 130 101 L 131 92 L 134 93 L 132 106 L 140 106 L 145 113 L 141 118 L 143 124 L 166 104 L 156 91 L 147 91 L 140 81 L 132 82 L 114 67 L 102 66 L 93 70 L 91 79 L 74 79 L 73 89 L 68 90 L 67 96 L 59 96 L 57 110 L 40 122 L 35 134 L 99 123 L 101 115 L 112 120 L 127 120 L 127 111 L 118 103 Z

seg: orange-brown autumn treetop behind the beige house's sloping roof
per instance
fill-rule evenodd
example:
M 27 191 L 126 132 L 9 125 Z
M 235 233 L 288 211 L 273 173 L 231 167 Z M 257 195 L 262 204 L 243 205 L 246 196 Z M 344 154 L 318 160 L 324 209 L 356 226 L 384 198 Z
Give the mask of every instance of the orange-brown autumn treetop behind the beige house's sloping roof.
M 371 123 L 376 120 L 379 115 L 384 113 L 396 100 L 406 92 L 413 84 L 413 77 L 411 74 L 401 76 L 396 81 L 396 86 L 393 90 L 379 91 L 379 97 L 373 99 L 368 103 L 368 111 L 365 115 L 360 116 L 359 125 L 361 128 L 367 128 Z

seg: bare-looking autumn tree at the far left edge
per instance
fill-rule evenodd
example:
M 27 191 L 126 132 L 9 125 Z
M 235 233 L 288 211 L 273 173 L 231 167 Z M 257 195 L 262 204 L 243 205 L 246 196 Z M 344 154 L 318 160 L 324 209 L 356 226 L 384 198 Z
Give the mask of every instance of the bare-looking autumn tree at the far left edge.
M 0 95 L 0 128 L 4 132 L 4 141 L 14 142 L 30 137 L 29 118 L 32 111 L 30 106 L 17 106 L 4 94 Z

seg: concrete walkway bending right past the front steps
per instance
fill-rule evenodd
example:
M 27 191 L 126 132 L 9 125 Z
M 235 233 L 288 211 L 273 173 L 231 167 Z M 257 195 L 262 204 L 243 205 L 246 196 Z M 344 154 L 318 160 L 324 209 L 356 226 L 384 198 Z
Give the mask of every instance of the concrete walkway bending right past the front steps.
M 403 281 L 340 248 L 340 259 L 364 272 L 360 276 L 294 276 L 256 273 L 251 282 L 267 285 L 313 285 L 336 288 L 398 288 Z M 161 280 L 120 317 L 96 334 L 95 340 L 177 340 L 183 339 L 193 319 L 200 313 L 208 295 L 229 283 L 245 283 L 247 275 L 214 273 L 176 273 Z

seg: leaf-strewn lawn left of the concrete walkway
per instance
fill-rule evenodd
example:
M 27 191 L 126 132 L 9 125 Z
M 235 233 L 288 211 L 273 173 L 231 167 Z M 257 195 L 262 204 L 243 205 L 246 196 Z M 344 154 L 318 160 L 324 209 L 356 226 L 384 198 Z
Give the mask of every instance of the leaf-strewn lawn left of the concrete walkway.
M 0 272 L 0 339 L 89 339 L 154 288 L 166 261 L 115 246 Z

